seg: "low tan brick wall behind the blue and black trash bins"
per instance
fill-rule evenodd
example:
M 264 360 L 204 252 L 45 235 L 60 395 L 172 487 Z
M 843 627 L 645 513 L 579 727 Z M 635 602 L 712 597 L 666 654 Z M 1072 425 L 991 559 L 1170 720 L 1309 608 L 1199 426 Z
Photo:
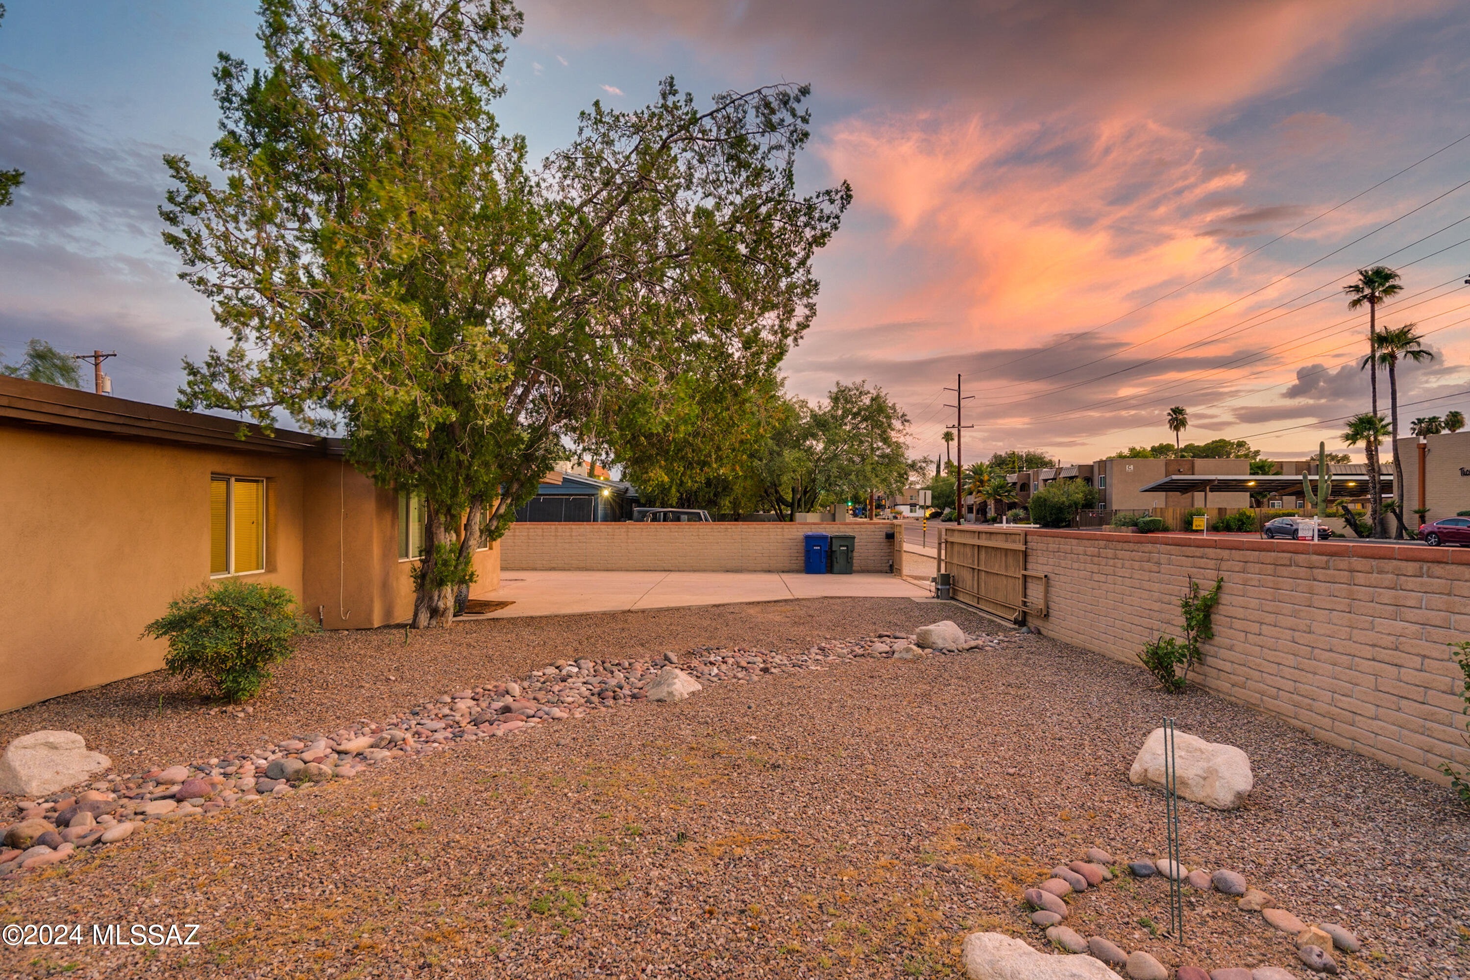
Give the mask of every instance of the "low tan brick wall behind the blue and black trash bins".
M 501 539 L 504 572 L 801 572 L 801 536 L 857 538 L 854 572 L 888 573 L 895 522 L 786 523 L 525 523 Z

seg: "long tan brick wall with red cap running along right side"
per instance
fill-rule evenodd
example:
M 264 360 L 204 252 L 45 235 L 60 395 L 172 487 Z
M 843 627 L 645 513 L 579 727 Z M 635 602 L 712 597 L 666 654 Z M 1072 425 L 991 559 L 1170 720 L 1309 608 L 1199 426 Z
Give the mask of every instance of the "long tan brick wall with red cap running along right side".
M 1205 688 L 1424 779 L 1470 767 L 1446 646 L 1470 639 L 1470 551 L 1030 530 L 1026 569 L 1048 576 L 1044 633 L 1129 663 L 1182 636 L 1191 574 L 1225 576 Z

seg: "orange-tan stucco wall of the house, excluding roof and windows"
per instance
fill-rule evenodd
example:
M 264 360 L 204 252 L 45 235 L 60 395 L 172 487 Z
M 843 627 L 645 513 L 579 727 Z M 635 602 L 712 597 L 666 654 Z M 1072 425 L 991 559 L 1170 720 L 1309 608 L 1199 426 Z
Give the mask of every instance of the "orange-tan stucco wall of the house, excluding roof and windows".
M 0 711 L 162 667 L 163 642 L 138 635 L 209 580 L 212 473 L 268 480 L 266 572 L 243 577 L 328 629 L 412 613 L 395 494 L 337 460 L 18 426 L 0 426 Z M 498 588 L 498 548 L 475 566 L 473 595 Z

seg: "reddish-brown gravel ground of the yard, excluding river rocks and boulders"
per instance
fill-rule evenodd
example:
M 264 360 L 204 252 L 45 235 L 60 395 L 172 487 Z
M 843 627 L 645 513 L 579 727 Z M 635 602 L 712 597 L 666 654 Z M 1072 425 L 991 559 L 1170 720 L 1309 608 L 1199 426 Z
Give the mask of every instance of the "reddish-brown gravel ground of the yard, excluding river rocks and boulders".
M 1467 976 L 1470 814 L 1448 790 L 1267 716 L 953 605 L 811 599 L 465 623 L 310 639 L 244 720 L 150 676 L 0 717 L 0 741 L 81 732 L 169 764 L 378 718 L 579 655 L 800 651 L 936 619 L 1007 639 L 844 660 L 676 704 L 637 702 L 384 764 L 0 883 L 4 923 L 201 923 L 200 948 L 0 948 L 0 973 L 126 977 L 956 976 L 963 937 L 1045 946 L 1020 896 L 1100 846 L 1161 855 L 1161 798 L 1127 782 L 1167 713 L 1245 749 L 1245 808 L 1182 802 L 1182 858 L 1233 868 L 1364 943 L 1348 977 Z M 395 680 L 388 682 L 387 676 Z M 159 692 L 165 692 L 162 717 Z M 128 763 L 128 765 L 132 765 Z M 140 761 L 140 767 L 144 763 Z M 1288 967 L 1291 939 L 1217 892 L 1069 896 L 1067 924 L 1166 965 Z

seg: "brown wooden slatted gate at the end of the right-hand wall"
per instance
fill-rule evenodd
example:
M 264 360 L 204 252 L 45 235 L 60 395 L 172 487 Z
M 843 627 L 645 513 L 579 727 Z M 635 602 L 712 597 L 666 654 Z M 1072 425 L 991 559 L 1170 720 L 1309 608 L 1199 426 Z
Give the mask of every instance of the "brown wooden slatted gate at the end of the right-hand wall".
M 1026 572 L 1026 532 L 998 527 L 945 527 L 939 572 L 950 574 L 950 595 L 1017 626 L 1026 613 L 1047 614 L 1047 576 Z M 1028 601 L 1028 583 L 1039 595 Z M 1035 591 L 1033 591 L 1035 592 Z

